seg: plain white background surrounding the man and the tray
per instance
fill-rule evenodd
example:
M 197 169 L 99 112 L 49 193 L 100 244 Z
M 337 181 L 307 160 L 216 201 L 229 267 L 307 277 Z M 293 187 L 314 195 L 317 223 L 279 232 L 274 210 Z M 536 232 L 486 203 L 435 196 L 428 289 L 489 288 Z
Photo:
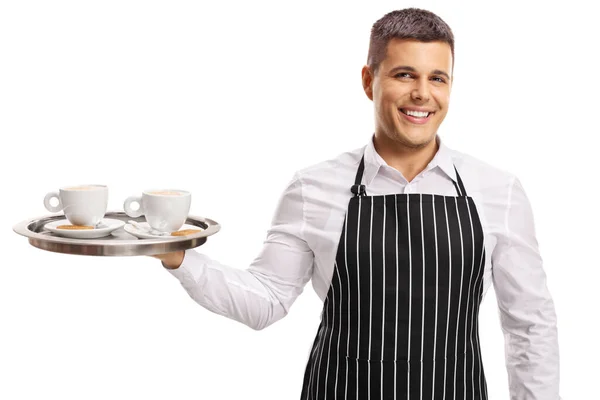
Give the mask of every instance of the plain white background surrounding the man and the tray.
M 1 4 L 0 398 L 299 398 L 321 311 L 310 285 L 256 332 L 198 306 L 158 260 L 42 251 L 12 227 L 47 215 L 44 195 L 64 185 L 108 185 L 109 210 L 186 189 L 192 214 L 222 224 L 200 249 L 245 268 L 294 172 L 370 138 L 370 29 L 414 5 L 456 38 L 439 133 L 521 179 L 558 314 L 561 395 L 594 397 L 600 65 L 583 1 Z M 480 327 L 490 399 L 508 399 L 491 289 Z

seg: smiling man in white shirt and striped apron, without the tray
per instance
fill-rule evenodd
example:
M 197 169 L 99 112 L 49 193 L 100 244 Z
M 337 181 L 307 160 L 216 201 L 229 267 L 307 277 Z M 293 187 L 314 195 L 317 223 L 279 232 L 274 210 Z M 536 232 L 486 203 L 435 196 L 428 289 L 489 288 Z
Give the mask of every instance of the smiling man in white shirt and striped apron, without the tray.
M 494 285 L 513 400 L 558 400 L 554 304 L 519 180 L 448 148 L 454 37 L 435 14 L 373 25 L 363 148 L 298 171 L 246 270 L 158 255 L 212 312 L 263 329 L 312 279 L 324 302 L 301 399 L 488 399 L 478 315 Z

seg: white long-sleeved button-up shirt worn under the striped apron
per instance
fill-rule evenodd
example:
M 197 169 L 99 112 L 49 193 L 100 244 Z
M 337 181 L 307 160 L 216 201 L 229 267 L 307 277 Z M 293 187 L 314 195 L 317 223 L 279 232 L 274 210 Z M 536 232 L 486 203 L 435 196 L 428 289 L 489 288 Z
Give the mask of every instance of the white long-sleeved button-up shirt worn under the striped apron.
M 445 146 L 408 182 L 363 147 L 302 169 L 284 190 L 267 239 L 249 268 L 232 268 L 187 250 L 170 273 L 208 310 L 263 329 L 284 317 L 309 280 L 325 300 L 361 156 L 367 195 L 429 193 L 457 196 L 458 169 L 483 226 L 483 294 L 490 285 L 500 309 L 511 399 L 558 400 L 556 314 L 546 286 L 529 200 L 519 180 Z

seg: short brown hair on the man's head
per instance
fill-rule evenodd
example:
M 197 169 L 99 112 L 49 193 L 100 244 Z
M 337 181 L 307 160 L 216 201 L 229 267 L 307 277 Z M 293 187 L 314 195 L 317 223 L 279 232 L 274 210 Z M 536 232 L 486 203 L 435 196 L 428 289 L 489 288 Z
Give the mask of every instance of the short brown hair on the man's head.
M 375 73 L 386 56 L 391 39 L 415 39 L 420 42 L 445 42 L 452 51 L 454 69 L 454 35 L 440 17 L 431 11 L 405 8 L 387 13 L 373 24 L 367 65 Z

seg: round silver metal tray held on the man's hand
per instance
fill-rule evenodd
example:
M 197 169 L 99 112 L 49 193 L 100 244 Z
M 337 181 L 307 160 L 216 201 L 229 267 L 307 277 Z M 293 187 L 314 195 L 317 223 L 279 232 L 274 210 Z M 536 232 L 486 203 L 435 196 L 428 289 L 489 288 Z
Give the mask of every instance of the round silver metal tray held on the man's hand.
M 188 250 L 203 245 L 206 238 L 217 233 L 221 226 L 208 218 L 188 216 L 186 224 L 202 228 L 202 232 L 189 236 L 165 239 L 138 239 L 125 232 L 123 228 L 113 231 L 109 236 L 98 239 L 71 239 L 58 236 L 44 229 L 48 222 L 65 218 L 64 215 L 45 216 L 23 221 L 13 227 L 19 235 L 29 238 L 29 243 L 42 250 L 56 253 L 78 254 L 85 256 L 141 256 Z M 145 222 L 144 217 L 131 218 L 124 212 L 108 212 L 105 218 L 122 221 Z

